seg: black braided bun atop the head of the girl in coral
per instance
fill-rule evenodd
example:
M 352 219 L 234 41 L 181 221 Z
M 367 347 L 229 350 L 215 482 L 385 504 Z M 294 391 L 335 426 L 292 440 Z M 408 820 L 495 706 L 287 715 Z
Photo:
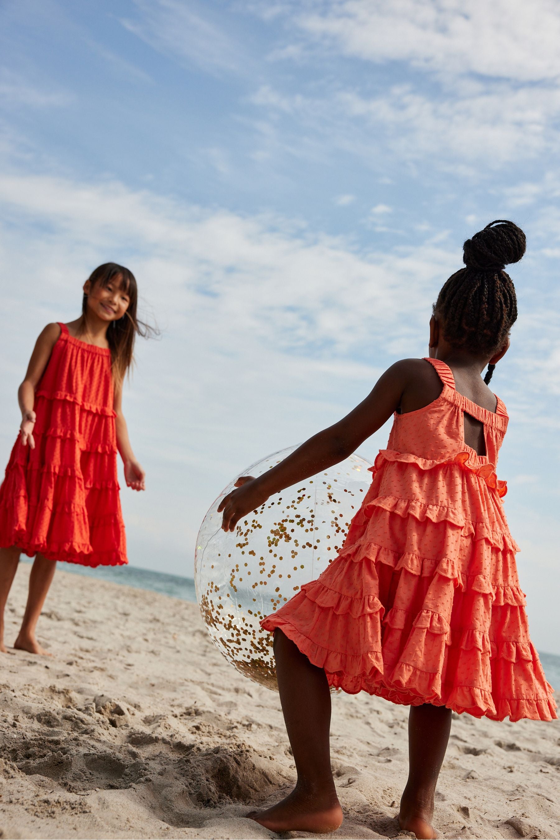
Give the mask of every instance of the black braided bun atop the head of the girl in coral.
M 513 222 L 499 218 L 463 244 L 463 262 L 483 271 L 503 270 L 525 254 L 525 234 Z

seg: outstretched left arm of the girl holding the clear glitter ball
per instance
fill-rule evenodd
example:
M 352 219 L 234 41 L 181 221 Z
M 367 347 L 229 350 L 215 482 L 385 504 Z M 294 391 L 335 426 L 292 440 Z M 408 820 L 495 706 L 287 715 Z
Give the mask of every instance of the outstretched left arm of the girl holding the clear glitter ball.
M 273 493 L 348 458 L 395 412 L 411 373 L 408 360 L 396 362 L 385 370 L 369 396 L 338 423 L 313 435 L 259 478 L 239 479 L 238 490 L 224 496 L 217 508 L 218 512 L 223 511 L 223 530 L 233 531 L 239 519 L 264 504 Z

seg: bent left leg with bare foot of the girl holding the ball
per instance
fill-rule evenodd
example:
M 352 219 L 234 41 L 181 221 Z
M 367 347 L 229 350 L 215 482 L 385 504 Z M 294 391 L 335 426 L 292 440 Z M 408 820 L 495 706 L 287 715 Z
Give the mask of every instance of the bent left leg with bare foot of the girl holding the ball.
M 331 771 L 327 677 L 280 630 L 275 631 L 275 659 L 297 782 L 278 805 L 249 816 L 273 832 L 333 832 L 343 822 L 343 811 Z

